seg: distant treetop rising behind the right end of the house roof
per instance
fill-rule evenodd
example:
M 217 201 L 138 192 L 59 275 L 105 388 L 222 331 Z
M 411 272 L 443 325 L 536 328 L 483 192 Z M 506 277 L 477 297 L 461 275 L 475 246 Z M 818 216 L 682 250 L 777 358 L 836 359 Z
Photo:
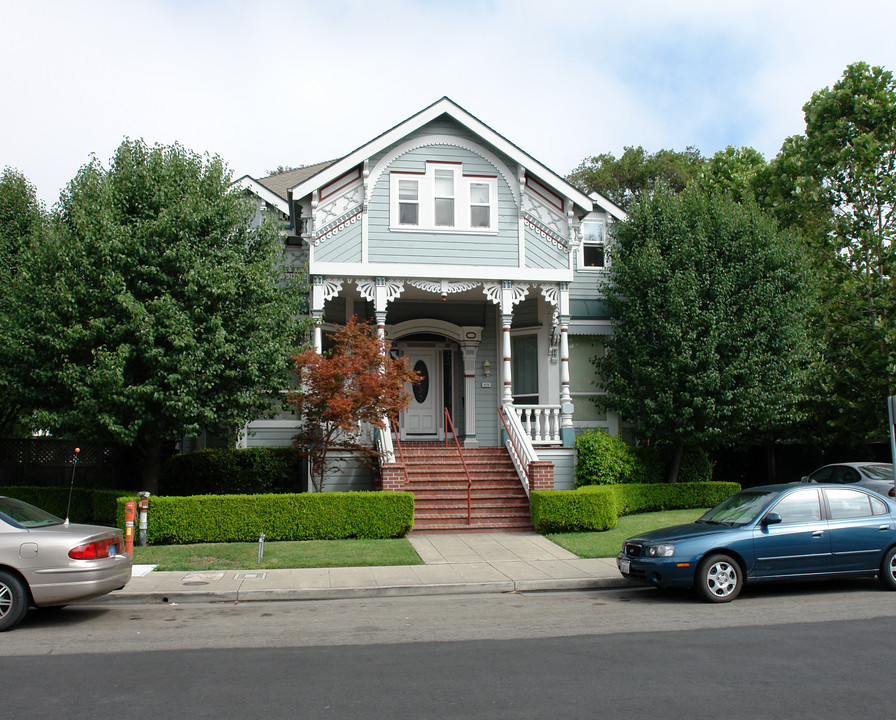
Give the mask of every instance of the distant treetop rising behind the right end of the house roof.
M 643 147 L 626 147 L 616 158 L 603 153 L 586 158 L 568 180 L 584 192 L 598 192 L 623 210 L 664 184 L 681 192 L 700 177 L 704 158 L 693 147 L 684 152 L 660 150 L 648 153 Z

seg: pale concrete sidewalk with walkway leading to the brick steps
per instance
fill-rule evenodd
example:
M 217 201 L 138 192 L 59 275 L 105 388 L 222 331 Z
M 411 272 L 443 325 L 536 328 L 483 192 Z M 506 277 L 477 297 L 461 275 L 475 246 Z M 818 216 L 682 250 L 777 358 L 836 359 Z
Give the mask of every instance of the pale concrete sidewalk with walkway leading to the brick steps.
M 582 560 L 534 532 L 410 535 L 424 565 L 296 570 L 148 571 L 91 602 L 335 600 L 628 587 L 615 558 Z

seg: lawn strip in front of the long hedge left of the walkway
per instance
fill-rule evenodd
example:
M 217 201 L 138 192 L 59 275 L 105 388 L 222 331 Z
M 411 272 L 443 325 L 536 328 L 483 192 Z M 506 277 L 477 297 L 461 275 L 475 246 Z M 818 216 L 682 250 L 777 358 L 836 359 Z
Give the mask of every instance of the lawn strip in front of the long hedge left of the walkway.
M 151 545 L 135 547 L 134 562 L 158 565 L 158 570 L 275 570 L 423 564 L 404 538 L 266 542 L 261 564 L 258 563 L 258 543 Z

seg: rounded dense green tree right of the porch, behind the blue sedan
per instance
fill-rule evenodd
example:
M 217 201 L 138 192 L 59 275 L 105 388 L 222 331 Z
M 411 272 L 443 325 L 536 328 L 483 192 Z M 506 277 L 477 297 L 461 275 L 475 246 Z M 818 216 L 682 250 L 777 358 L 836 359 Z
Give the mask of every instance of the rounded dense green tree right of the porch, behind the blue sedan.
M 790 422 L 807 354 L 804 254 L 755 203 L 660 188 L 614 226 L 611 259 L 603 403 L 673 449 L 667 479 L 686 446 Z

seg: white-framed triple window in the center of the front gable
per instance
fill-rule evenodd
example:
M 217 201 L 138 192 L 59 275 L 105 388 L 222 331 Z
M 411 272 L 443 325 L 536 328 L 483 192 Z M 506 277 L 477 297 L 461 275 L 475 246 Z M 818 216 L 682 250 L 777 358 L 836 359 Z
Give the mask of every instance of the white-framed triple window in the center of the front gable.
M 498 231 L 498 177 L 464 175 L 460 163 L 426 163 L 389 176 L 390 227 L 453 233 Z

